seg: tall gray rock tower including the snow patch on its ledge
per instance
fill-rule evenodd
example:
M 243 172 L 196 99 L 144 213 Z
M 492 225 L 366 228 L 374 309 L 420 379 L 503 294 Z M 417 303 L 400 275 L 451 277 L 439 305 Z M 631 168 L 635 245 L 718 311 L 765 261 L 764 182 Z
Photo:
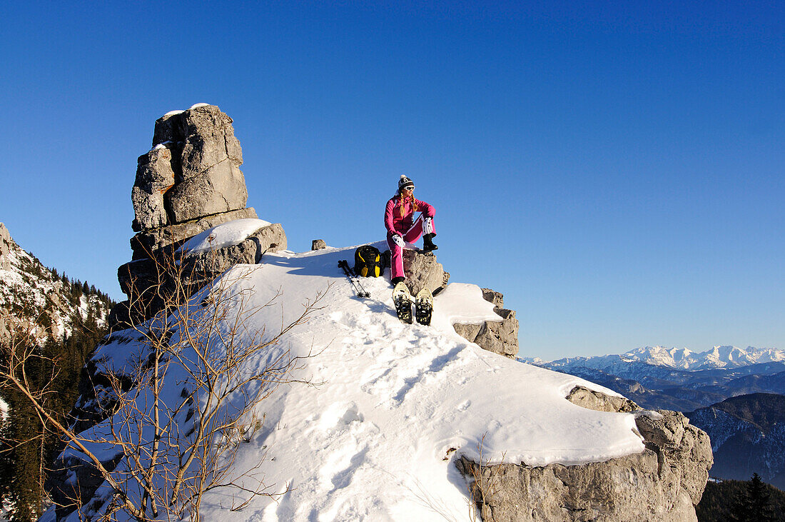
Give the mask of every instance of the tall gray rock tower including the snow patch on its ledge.
M 167 112 L 155 122 L 152 149 L 140 156 L 131 189 L 132 228 L 137 232 L 131 239 L 133 262 L 118 270 L 129 299 L 112 312 L 113 324 L 144 321 L 162 309 L 166 296 L 159 295 L 157 288 L 162 285 L 166 290 L 172 281 L 161 277 L 161 261 L 178 263 L 173 252 L 184 243 L 192 254 L 225 250 L 269 225 L 257 220 L 253 208 L 246 208 L 242 164 L 232 119 L 214 105 L 194 104 L 186 111 Z M 276 245 L 272 250 L 286 248 L 286 235 L 280 224 L 277 227 L 274 238 L 268 234 L 268 245 L 257 242 L 255 250 L 265 251 L 272 244 Z M 199 237 L 192 240 L 195 236 Z M 250 261 L 232 262 L 257 261 L 253 253 L 241 254 Z M 221 264 L 210 261 L 212 266 Z M 203 284 L 210 276 L 214 274 L 203 274 L 192 284 Z

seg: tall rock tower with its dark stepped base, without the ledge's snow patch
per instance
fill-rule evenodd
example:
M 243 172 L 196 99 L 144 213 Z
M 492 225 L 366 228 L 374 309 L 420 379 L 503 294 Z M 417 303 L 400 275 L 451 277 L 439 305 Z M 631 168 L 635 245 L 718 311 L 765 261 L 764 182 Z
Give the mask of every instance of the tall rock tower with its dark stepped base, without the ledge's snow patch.
M 152 150 L 139 157 L 131 190 L 137 232 L 131 239 L 132 261 L 118 269 L 129 300 L 112 310 L 112 326 L 152 317 L 166 308 L 177 288 L 195 291 L 232 265 L 255 263 L 266 251 L 286 249 L 283 227 L 271 224 L 239 245 L 196 255 L 177 250 L 208 228 L 257 217 L 246 208 L 242 164 L 232 119 L 214 105 L 196 104 L 155 122 Z

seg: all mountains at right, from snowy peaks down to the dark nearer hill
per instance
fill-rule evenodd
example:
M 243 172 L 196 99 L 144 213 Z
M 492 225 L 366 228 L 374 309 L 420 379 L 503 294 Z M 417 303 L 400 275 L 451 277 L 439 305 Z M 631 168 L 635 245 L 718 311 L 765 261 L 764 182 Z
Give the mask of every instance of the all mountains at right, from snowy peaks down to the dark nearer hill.
M 715 346 L 706 352 L 634 349 L 621 355 L 529 359 L 596 382 L 649 410 L 683 411 L 709 434 L 711 476 L 785 488 L 785 351 Z

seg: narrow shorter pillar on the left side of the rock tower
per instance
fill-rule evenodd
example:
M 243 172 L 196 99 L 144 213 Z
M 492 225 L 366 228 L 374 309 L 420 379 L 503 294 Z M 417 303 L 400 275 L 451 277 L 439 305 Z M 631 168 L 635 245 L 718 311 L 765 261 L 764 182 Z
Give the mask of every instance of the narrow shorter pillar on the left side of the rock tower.
M 137 160 L 137 180 L 131 189 L 131 202 L 136 219 L 133 230 L 139 232 L 169 224 L 164 194 L 174 185 L 172 151 L 159 146 Z

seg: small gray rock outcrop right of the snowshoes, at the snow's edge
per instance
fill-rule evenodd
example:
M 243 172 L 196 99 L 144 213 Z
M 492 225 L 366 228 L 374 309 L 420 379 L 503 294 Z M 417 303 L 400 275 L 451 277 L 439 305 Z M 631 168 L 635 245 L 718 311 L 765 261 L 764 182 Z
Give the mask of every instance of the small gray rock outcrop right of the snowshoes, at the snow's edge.
M 514 358 L 518 353 L 518 319 L 514 310 L 502 308 L 504 296 L 494 290 L 483 289 L 485 301 L 495 305 L 494 312 L 499 321 L 485 321 L 484 324 L 455 324 L 453 327 L 462 338 L 480 345 L 488 352 Z

